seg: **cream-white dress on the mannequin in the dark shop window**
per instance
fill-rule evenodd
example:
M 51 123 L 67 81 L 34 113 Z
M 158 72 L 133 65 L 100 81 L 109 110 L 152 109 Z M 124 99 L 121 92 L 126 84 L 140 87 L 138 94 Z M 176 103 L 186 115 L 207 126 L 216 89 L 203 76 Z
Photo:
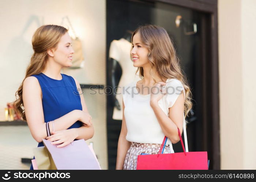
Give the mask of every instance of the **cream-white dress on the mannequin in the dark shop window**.
M 137 68 L 133 67 L 132 60 L 130 59 L 131 46 L 132 44 L 128 40 L 121 38 L 119 40 L 113 40 L 109 48 L 109 58 L 117 60 L 122 68 L 122 76 L 116 90 L 116 99 L 120 104 L 121 110 L 114 107 L 112 116 L 116 120 L 123 119 L 122 88 L 131 82 L 140 80 L 139 76 L 135 75 Z

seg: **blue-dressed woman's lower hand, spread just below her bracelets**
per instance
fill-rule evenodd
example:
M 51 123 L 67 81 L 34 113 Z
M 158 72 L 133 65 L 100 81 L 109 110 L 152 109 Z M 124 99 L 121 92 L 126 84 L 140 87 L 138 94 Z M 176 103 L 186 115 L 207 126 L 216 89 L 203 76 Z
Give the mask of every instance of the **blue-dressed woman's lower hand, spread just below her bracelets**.
M 73 142 L 76 137 L 78 137 L 77 133 L 73 129 L 74 128 L 68 130 L 53 131 L 52 135 L 46 137 L 46 139 L 50 141 L 52 145 L 61 143 L 60 145 L 57 145 L 57 148 L 64 147 Z

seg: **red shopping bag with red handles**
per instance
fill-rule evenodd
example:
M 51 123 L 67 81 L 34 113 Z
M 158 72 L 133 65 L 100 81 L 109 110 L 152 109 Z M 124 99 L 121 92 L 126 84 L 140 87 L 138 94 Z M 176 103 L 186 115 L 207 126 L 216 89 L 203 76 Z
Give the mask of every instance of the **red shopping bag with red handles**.
M 163 153 L 167 138 L 163 139 L 163 143 L 158 154 L 138 155 L 137 169 L 138 170 L 207 170 L 208 159 L 207 152 L 186 152 L 181 138 L 180 130 L 178 129 L 183 152 L 161 154 Z

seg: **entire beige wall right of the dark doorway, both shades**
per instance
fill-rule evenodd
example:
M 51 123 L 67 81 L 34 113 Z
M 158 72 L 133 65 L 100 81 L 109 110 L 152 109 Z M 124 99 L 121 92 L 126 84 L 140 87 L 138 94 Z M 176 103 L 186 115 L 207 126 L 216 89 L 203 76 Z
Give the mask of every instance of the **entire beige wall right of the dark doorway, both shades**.
M 221 169 L 256 169 L 255 9 L 218 1 Z

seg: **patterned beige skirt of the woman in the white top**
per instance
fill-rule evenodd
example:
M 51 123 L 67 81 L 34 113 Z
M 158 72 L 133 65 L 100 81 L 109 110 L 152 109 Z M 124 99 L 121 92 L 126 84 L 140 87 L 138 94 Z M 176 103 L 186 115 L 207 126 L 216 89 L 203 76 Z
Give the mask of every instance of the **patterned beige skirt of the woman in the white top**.
M 152 143 L 135 143 L 132 142 L 130 148 L 127 151 L 124 160 L 124 170 L 135 170 L 137 167 L 137 158 L 141 153 L 145 154 L 157 154 L 160 150 L 161 144 Z M 165 146 L 164 154 L 171 153 L 170 146 Z

